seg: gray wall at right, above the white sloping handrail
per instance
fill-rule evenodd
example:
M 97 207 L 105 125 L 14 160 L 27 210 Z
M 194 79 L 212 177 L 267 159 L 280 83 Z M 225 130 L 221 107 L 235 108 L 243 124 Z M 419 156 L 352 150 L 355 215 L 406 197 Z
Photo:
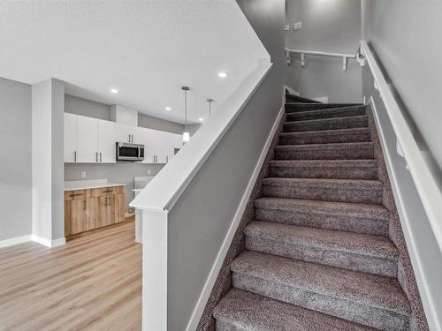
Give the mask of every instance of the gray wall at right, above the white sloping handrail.
M 415 137 L 442 168 L 442 2 L 370 0 L 362 3 L 364 39 L 370 41 L 400 95 Z

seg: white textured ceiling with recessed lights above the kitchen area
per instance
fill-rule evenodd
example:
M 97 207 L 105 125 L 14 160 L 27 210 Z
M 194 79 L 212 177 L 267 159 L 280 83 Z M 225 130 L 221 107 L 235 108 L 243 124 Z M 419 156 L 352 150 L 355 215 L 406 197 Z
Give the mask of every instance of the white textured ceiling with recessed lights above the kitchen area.
M 67 94 L 179 123 L 181 86 L 196 123 L 269 56 L 234 0 L 0 1 L 0 45 L 0 77 L 61 79 Z

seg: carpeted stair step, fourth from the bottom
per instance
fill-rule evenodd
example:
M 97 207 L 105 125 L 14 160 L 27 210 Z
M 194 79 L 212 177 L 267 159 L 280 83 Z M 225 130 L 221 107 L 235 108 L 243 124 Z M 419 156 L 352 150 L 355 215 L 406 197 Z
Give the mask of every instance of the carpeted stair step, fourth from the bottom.
M 389 211 L 380 205 L 309 199 L 255 199 L 255 219 L 388 236 Z

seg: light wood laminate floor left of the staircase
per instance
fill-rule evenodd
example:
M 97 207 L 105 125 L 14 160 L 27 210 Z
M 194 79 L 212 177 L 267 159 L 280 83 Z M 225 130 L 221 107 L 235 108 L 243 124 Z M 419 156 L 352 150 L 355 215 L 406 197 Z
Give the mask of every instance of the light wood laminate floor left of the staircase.
M 0 249 L 0 330 L 141 330 L 133 222 L 47 248 Z

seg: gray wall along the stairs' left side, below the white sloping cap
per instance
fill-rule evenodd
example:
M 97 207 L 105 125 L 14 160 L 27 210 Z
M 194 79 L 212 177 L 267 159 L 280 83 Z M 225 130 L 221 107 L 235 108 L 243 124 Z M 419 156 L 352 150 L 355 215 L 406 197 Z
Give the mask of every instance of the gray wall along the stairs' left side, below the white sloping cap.
M 169 214 L 170 331 L 187 325 L 282 106 L 284 0 L 238 3 L 274 67 Z

